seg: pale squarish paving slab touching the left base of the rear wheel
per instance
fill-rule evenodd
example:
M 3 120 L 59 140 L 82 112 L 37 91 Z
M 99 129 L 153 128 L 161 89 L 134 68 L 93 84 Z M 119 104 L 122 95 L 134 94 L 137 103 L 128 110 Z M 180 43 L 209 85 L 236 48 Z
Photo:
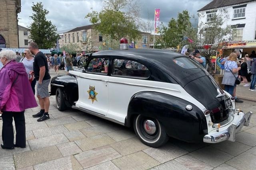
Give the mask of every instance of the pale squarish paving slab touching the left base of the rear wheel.
M 137 137 L 116 142 L 110 146 L 123 156 L 149 148 L 147 145 L 144 145 Z

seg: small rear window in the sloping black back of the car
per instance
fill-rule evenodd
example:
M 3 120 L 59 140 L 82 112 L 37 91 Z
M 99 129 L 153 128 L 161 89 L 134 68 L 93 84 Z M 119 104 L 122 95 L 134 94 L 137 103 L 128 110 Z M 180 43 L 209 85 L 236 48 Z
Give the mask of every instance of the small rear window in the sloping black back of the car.
M 194 61 L 188 57 L 178 57 L 178 58 L 173 59 L 173 62 L 185 69 L 201 67 L 199 63 L 197 63 L 196 61 Z

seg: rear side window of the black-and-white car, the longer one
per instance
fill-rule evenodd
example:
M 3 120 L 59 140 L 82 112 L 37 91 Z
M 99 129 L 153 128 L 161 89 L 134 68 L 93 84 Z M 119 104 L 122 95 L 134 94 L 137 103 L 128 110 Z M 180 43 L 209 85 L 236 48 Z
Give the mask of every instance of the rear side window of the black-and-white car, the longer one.
M 129 76 L 136 78 L 148 78 L 150 72 L 146 66 L 137 61 L 114 59 L 112 76 Z

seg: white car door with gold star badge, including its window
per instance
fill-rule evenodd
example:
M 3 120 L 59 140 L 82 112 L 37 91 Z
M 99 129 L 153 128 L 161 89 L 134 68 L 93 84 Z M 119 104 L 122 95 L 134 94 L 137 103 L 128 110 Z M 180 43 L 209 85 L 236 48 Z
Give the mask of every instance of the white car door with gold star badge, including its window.
M 88 60 L 86 72 L 78 80 L 79 98 L 76 106 L 106 115 L 108 102 L 108 58 L 96 57 Z

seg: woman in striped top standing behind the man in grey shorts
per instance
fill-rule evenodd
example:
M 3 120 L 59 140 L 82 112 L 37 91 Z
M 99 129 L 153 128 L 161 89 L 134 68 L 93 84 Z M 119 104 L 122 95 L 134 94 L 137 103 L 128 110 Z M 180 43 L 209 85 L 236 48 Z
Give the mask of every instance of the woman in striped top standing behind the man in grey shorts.
M 36 79 L 34 79 L 34 76 L 32 77 L 30 74 L 30 71 L 33 71 L 34 57 L 32 56 L 32 53 L 30 53 L 29 49 L 25 49 L 24 55 L 25 57 L 23 57 L 20 60 L 20 63 L 23 63 L 24 67 L 26 68 L 28 79 L 32 79 L 31 87 L 32 87 L 33 93 L 35 94 Z

